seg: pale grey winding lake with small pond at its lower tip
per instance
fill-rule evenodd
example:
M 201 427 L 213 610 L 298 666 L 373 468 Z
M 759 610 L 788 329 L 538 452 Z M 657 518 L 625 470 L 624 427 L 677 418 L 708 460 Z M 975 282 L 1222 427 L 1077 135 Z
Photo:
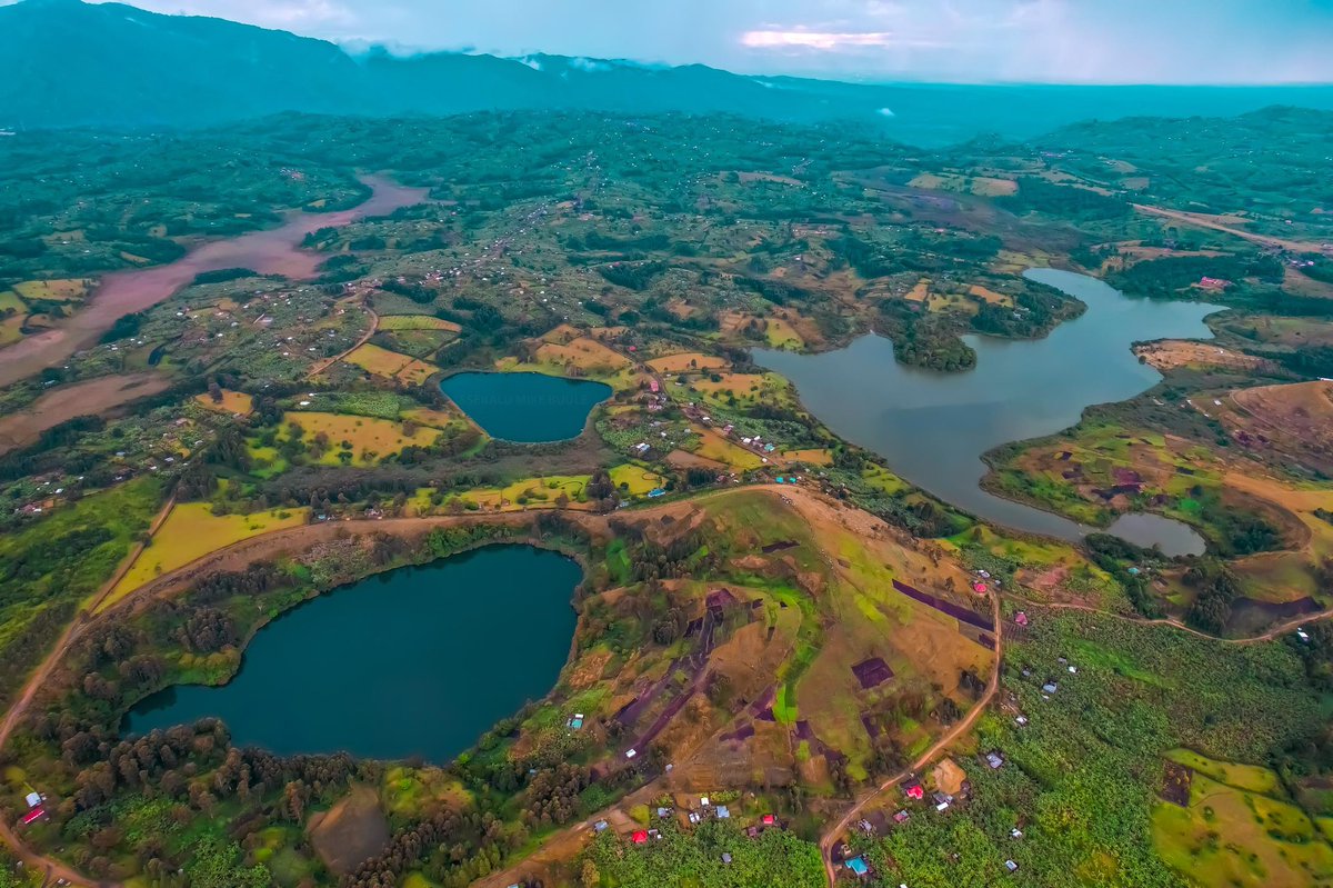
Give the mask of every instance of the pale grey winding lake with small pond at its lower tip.
M 1068 428 L 1090 404 L 1152 388 L 1161 375 L 1140 364 L 1130 345 L 1212 339 L 1204 317 L 1222 307 L 1132 299 L 1096 277 L 1050 268 L 1025 276 L 1082 300 L 1088 311 L 1040 340 L 964 337 L 977 352 L 968 372 L 898 364 L 893 344 L 878 336 L 822 355 L 757 349 L 754 360 L 792 380 L 829 428 L 881 455 L 913 484 L 994 524 L 1076 540 L 1090 528 L 981 489 L 981 455 Z M 1204 551 L 1192 528 L 1156 515 L 1125 515 L 1110 531 L 1168 555 Z

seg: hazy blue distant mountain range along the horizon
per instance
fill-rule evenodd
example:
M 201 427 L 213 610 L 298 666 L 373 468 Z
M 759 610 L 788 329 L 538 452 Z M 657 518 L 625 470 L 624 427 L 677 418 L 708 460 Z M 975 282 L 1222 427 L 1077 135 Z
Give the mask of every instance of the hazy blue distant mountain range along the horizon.
M 568 108 L 846 119 L 904 141 L 940 144 L 981 132 L 1028 137 L 1088 117 L 1333 108 L 1333 87 L 865 85 L 545 55 L 353 56 L 284 31 L 80 0 L 0 7 L 0 128 L 201 127 L 289 111 Z

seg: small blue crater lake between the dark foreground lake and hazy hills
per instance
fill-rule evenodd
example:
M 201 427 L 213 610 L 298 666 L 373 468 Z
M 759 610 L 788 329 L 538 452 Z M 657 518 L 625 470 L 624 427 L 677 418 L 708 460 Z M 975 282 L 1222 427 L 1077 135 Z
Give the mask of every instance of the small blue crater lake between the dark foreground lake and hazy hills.
M 612 395 L 605 383 L 545 373 L 456 373 L 440 391 L 487 435 L 523 444 L 579 437 Z

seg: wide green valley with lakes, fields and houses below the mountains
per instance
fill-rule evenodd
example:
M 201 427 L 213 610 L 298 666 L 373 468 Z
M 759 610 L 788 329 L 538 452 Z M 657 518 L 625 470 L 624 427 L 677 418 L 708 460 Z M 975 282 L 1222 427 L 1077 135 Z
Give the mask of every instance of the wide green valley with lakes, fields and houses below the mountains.
M 0 191 L 8 853 L 132 888 L 1328 884 L 1333 212 L 1274 167 L 1329 133 L 0 140 L 35 183 Z

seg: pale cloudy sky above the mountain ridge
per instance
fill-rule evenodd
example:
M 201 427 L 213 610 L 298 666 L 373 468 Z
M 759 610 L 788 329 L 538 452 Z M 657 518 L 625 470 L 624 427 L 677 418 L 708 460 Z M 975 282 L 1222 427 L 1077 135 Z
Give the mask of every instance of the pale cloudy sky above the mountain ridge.
M 1333 0 L 129 1 L 357 45 L 700 61 L 748 73 L 1333 81 Z

